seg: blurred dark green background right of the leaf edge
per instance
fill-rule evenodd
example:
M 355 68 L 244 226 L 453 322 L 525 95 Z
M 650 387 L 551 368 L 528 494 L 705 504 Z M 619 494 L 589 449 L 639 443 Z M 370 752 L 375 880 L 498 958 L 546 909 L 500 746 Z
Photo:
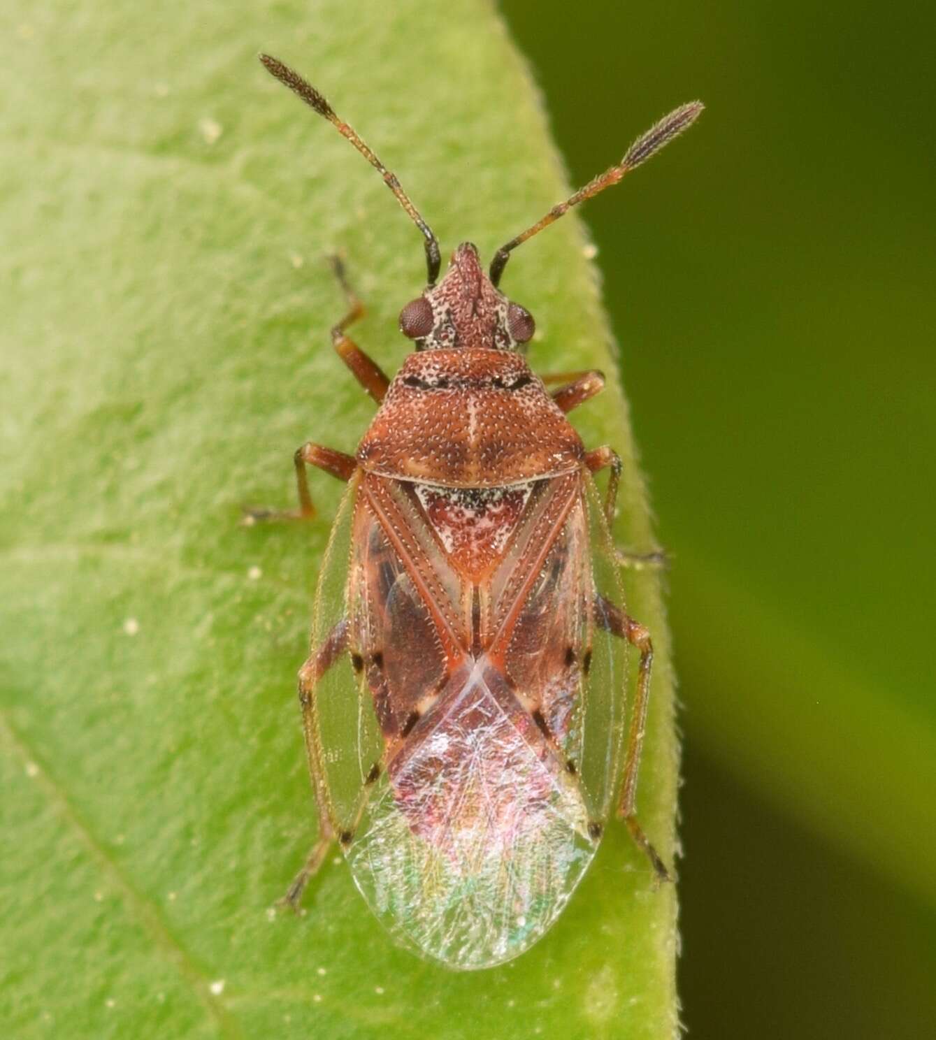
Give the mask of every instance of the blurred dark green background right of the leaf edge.
M 932 1036 L 936 8 L 502 7 L 575 183 L 708 106 L 583 213 L 674 557 L 690 1035 Z

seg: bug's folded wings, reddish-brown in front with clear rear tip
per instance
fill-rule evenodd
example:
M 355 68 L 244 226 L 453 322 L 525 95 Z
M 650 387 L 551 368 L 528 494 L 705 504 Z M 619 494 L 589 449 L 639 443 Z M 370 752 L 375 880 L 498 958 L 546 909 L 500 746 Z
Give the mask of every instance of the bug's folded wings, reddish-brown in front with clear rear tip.
M 608 814 L 624 721 L 623 641 L 597 623 L 621 589 L 591 477 L 485 495 L 353 483 L 315 617 L 319 643 L 347 619 L 346 652 L 316 687 L 311 757 L 355 881 L 405 943 L 461 968 L 517 956 L 568 902 Z M 431 515 L 452 544 L 453 517 L 510 517 L 483 581 Z

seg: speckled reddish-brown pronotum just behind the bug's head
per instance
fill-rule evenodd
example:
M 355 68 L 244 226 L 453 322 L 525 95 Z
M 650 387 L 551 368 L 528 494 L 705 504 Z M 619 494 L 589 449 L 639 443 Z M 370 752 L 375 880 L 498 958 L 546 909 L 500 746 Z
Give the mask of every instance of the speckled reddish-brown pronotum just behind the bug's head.
M 519 354 L 411 354 L 358 448 L 362 468 L 482 488 L 569 473 L 581 440 Z

